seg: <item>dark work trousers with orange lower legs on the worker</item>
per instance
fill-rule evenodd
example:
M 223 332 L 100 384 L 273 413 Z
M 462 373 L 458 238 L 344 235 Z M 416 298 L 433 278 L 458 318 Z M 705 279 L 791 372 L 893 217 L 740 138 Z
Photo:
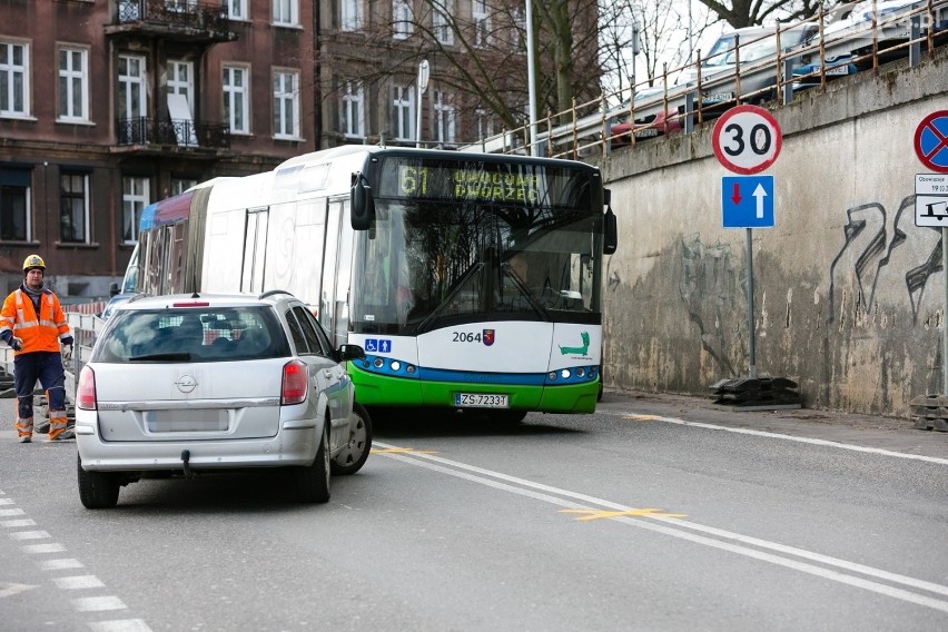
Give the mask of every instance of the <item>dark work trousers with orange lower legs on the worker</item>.
M 66 429 L 66 374 L 62 358 L 53 352 L 19 354 L 13 358 L 13 388 L 17 391 L 17 434 L 33 434 L 33 389 L 39 381 L 49 398 L 49 438 Z

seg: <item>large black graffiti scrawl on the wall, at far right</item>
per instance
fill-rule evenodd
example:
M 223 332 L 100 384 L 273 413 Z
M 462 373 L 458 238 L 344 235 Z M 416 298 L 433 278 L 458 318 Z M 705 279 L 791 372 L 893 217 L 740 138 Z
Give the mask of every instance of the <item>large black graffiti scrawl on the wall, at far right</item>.
M 905 227 L 910 228 L 906 230 Z M 891 238 L 886 207 L 880 203 L 861 204 L 847 209 L 843 235 L 842 247 L 830 266 L 828 322 L 833 323 L 837 318 L 839 278 L 856 279 L 856 307 L 869 312 L 876 300 L 879 280 L 888 273 L 903 276 L 912 324 L 917 324 L 919 306 L 928 282 L 932 275 L 941 271 L 944 246 L 938 228 L 915 227 L 915 196 L 902 199 L 896 210 Z M 910 243 L 910 239 L 915 243 Z M 896 264 L 897 249 L 909 245 L 911 247 L 907 250 L 914 255 L 909 255 L 907 260 L 899 259 Z M 890 269 L 893 265 L 902 269 Z

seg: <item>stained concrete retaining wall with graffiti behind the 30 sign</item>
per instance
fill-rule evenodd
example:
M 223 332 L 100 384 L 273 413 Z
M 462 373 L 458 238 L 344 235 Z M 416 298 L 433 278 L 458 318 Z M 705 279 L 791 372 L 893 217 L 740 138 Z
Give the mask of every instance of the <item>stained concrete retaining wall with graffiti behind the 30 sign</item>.
M 944 47 L 942 47 L 944 48 Z M 804 407 L 909 415 L 942 392 L 941 231 L 915 226 L 919 122 L 948 110 L 948 51 L 773 110 L 777 226 L 754 229 L 757 368 Z M 606 260 L 608 386 L 708 395 L 747 376 L 747 231 L 723 229 L 713 122 L 600 166 L 619 217 Z

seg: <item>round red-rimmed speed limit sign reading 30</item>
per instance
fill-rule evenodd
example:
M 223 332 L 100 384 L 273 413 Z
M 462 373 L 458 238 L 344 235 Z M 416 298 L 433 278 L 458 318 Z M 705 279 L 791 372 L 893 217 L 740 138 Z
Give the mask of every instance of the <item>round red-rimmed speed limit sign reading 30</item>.
M 758 106 L 738 106 L 714 124 L 711 145 L 725 169 L 758 174 L 777 160 L 783 137 L 777 119 Z

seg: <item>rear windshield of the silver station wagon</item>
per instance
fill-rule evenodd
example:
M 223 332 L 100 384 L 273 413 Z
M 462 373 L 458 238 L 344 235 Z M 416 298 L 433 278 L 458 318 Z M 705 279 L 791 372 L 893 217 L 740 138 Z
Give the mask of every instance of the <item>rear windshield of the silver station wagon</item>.
M 286 357 L 289 345 L 266 306 L 116 312 L 92 362 L 230 362 Z

